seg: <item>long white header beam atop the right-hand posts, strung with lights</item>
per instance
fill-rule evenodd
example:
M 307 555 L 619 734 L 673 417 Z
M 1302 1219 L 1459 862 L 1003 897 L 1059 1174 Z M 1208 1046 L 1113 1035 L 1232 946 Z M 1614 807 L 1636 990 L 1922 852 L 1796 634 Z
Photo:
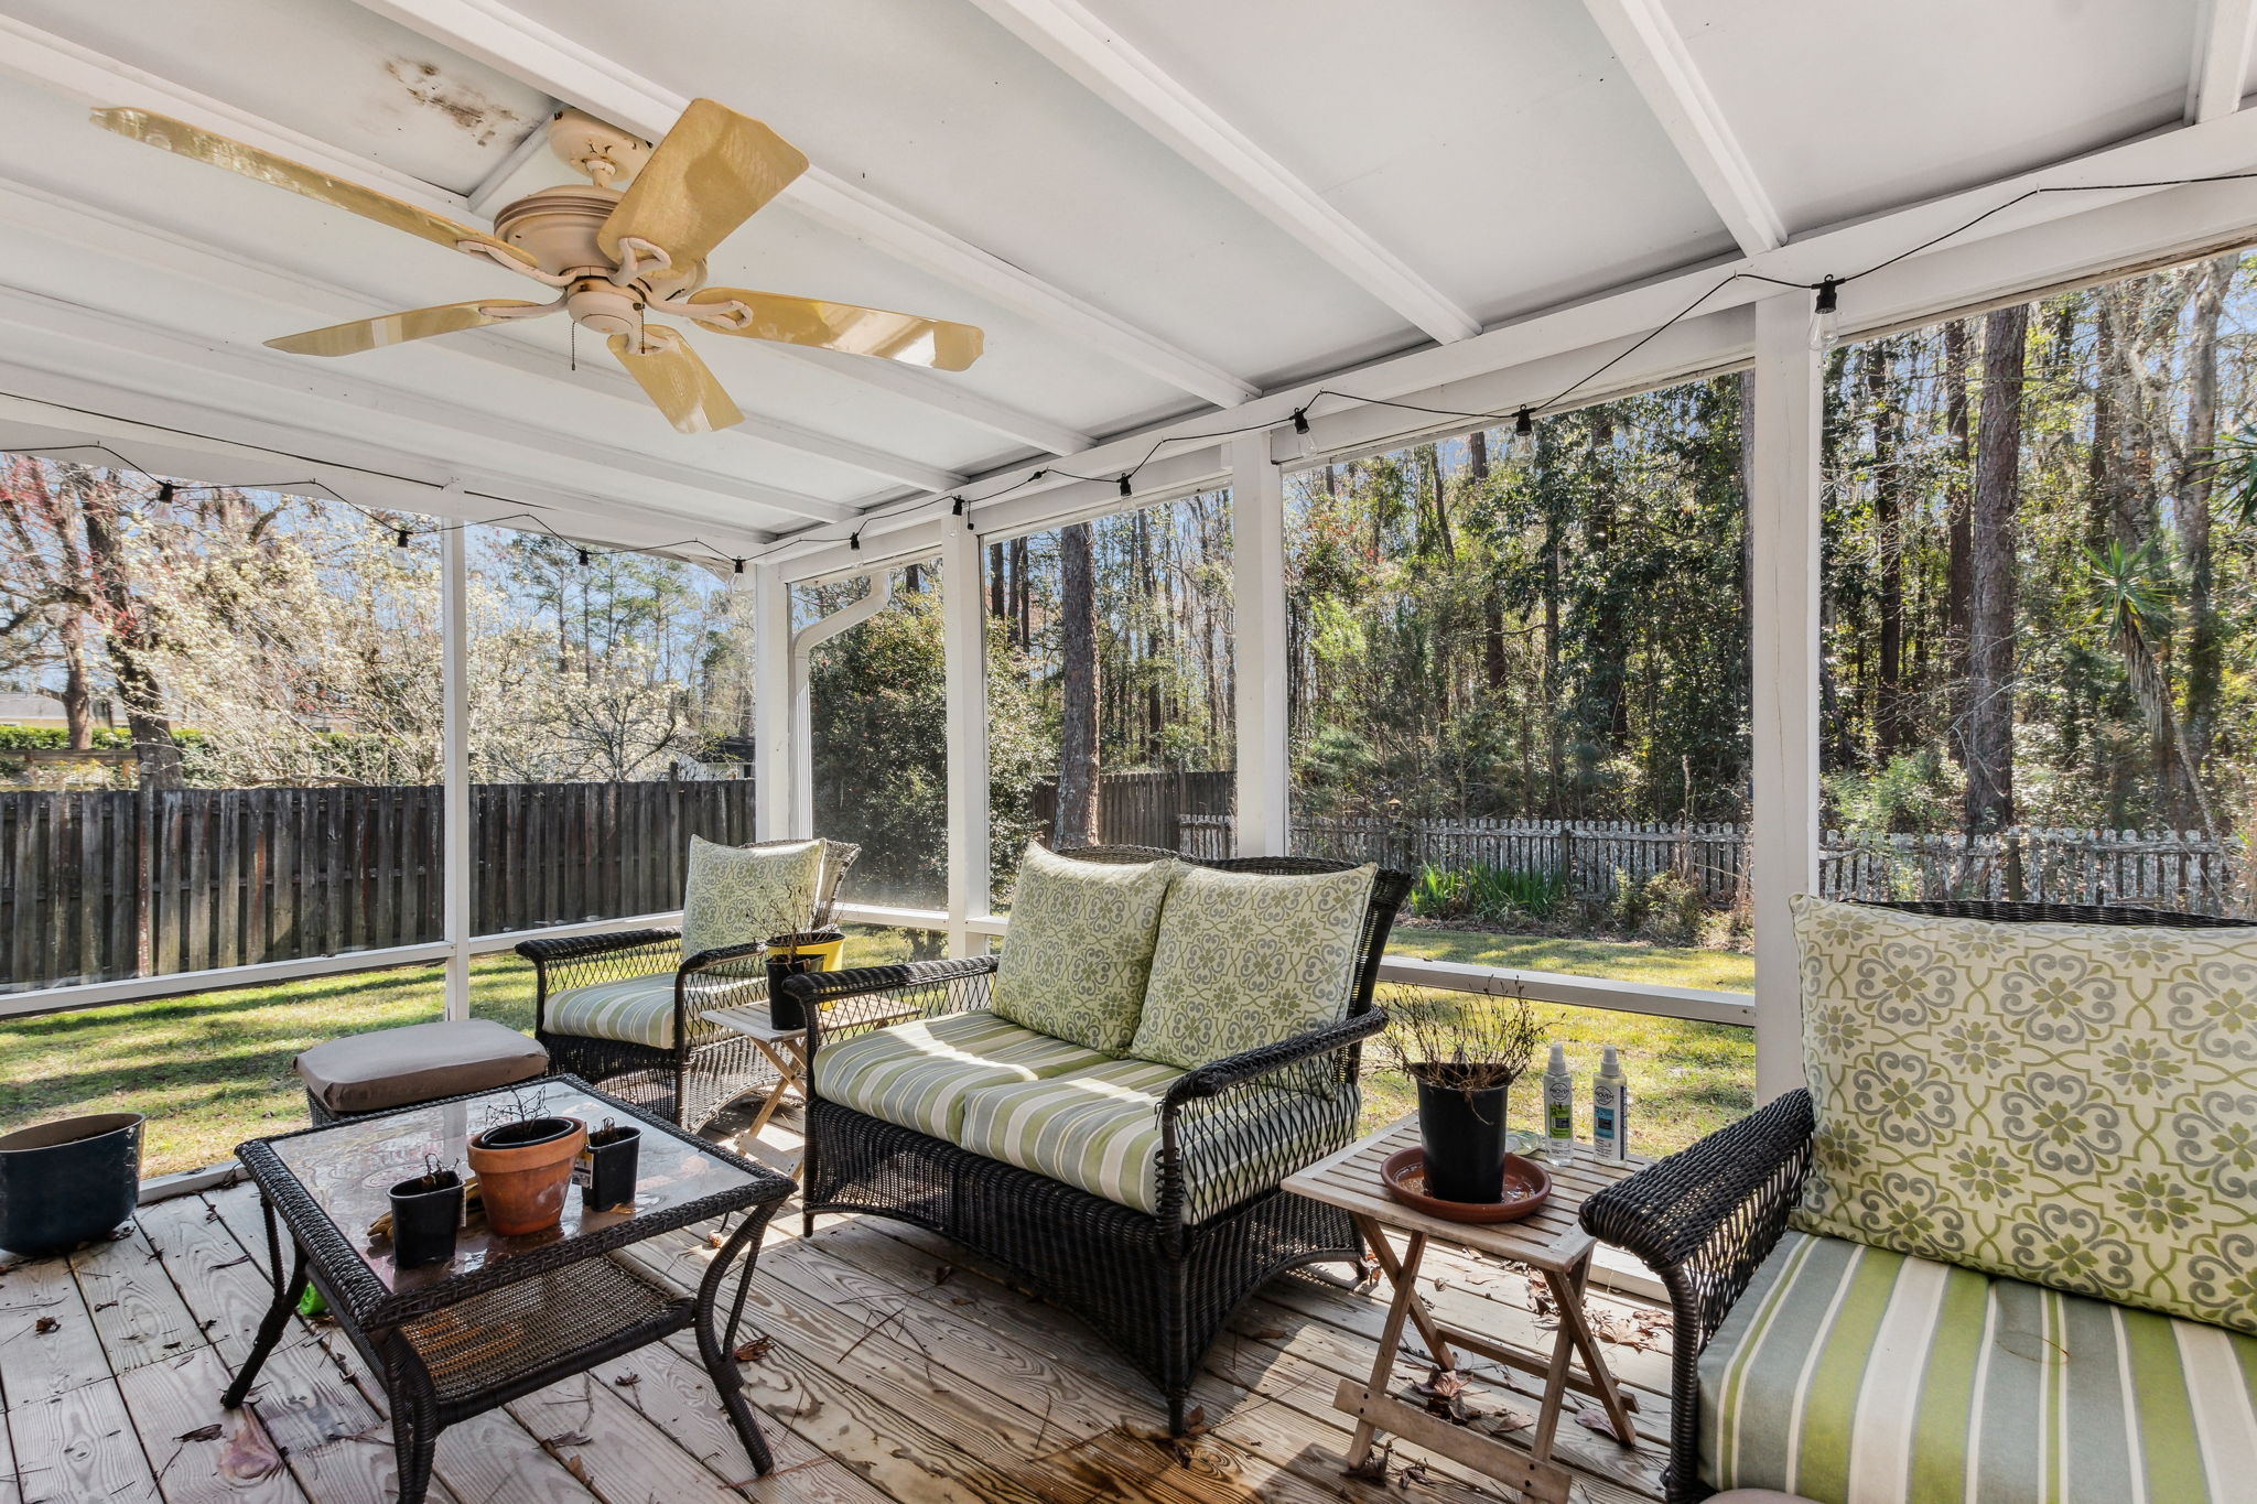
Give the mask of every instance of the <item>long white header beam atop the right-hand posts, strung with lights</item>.
M 2243 110 L 2225 115 L 2221 120 L 2201 126 L 2180 126 L 2176 131 L 2164 131 L 2158 135 L 2146 135 L 2119 147 L 2108 147 L 2083 158 L 2067 162 L 2054 162 L 2036 171 L 2018 174 L 2011 178 L 2000 178 L 1984 187 L 1964 189 L 1957 194 L 1946 194 L 1941 198 L 1930 198 L 1925 203 L 1907 205 L 1871 219 L 1860 219 L 1830 230 L 1817 230 L 1794 241 L 1792 246 L 1781 246 L 1779 250 L 1763 253 L 1758 257 L 1738 257 L 1727 262 L 1711 262 L 1706 266 L 1670 273 L 1652 282 L 1618 289 L 1614 293 L 1602 293 L 1582 302 L 1564 304 L 1557 309 L 1546 309 L 1542 313 L 1530 313 L 1510 325 L 1499 325 L 1485 334 L 1460 340 L 1456 345 L 1433 345 L 1426 350 L 1415 350 L 1411 354 L 1377 361 L 1363 368 L 1345 368 L 1302 381 L 1277 392 L 1268 392 L 1255 401 L 1241 404 L 1230 413 L 1203 413 L 1194 417 L 1171 419 L 1167 424 L 1156 424 L 1140 433 L 1124 433 L 1106 440 L 1092 449 L 1077 455 L 1068 455 L 1059 467 L 1031 467 L 1013 465 L 998 469 L 986 476 L 977 476 L 971 487 L 975 494 L 1011 489 L 1009 516 L 1016 525 L 1040 514 L 1040 503 L 1045 492 L 1059 492 L 1065 487 L 1077 487 L 1081 483 L 1068 478 L 1063 471 L 1097 474 L 1126 469 L 1142 460 L 1158 440 L 1176 440 L 1169 449 L 1162 449 L 1162 460 L 1167 455 L 1187 453 L 1196 449 L 1203 435 L 1219 433 L 1221 428 L 1235 428 L 1239 424 L 1275 424 L 1282 428 L 1291 422 L 1293 410 L 1309 401 L 1309 395 L 1320 388 L 1347 390 L 1363 399 L 1420 399 L 1444 390 L 1449 383 L 1469 381 L 1508 368 L 1521 368 L 1528 377 L 1517 383 L 1510 397 L 1494 401 L 1494 406 L 1478 410 L 1510 410 L 1519 401 L 1544 401 L 1553 390 L 1564 386 L 1564 381 L 1553 383 L 1537 379 L 1544 372 L 1537 363 L 1578 352 L 1578 363 L 1589 361 L 1598 365 L 1600 361 L 1625 352 L 1634 340 L 1645 338 L 1659 325 L 1681 313 L 1695 298 L 1702 298 L 1702 313 L 1720 313 L 1727 309 L 1742 309 L 1763 298 L 1776 295 L 1781 289 L 1769 282 L 1724 280 L 1736 271 L 1758 273 L 1763 277 L 1776 277 L 1783 282 L 1815 284 L 1819 277 L 1858 273 L 1867 266 L 1876 266 L 1887 257 L 1900 255 L 1907 246 L 1921 246 L 1930 239 L 1941 239 L 1939 246 L 1921 250 L 1903 259 L 1896 268 L 1876 277 L 1878 284 L 1900 282 L 1937 257 L 1948 257 L 1955 253 L 1966 253 L 1970 246 L 1982 246 L 2006 235 L 2018 235 L 2025 230 L 2036 230 L 2040 225 L 2052 225 L 2054 221 L 2083 219 L 2099 223 L 2101 210 L 2131 198 L 2153 198 L 2155 194 L 2176 194 L 2178 203 L 2187 203 L 2187 223 L 2164 223 L 2160 216 L 2151 228 L 2135 235 L 2119 235 L 2110 241 L 2115 248 L 2099 244 L 2085 244 L 2074 237 L 2065 237 L 2063 259 L 2031 264 L 2025 262 L 2020 275 L 2013 268 L 1986 266 L 1977 275 L 1961 273 L 1950 286 L 1927 286 L 1914 300 L 1914 307 L 1905 309 L 1903 298 L 1891 298 L 1887 309 L 1873 309 L 1873 298 L 1878 289 L 1869 284 L 1853 284 L 1842 291 L 1842 316 L 1846 327 L 1882 327 L 1889 320 L 1918 316 L 1923 309 L 1946 309 L 1966 307 L 1984 298 L 2011 293 L 2016 289 L 2043 286 L 2047 282 L 2074 275 L 2076 264 L 2088 264 L 2094 257 L 2104 266 L 2122 266 L 2142 255 L 2151 253 L 2176 253 L 2180 248 L 2196 248 L 2198 241 L 2214 239 L 2221 235 L 2234 235 L 2237 228 L 2246 230 L 2257 223 L 2257 185 L 2252 183 L 2210 183 L 2201 187 L 2108 187 L 2115 183 L 2169 183 L 2173 178 L 2203 178 L 2214 174 L 2237 174 L 2257 167 L 2257 110 Z M 1997 210 L 2009 201 L 2020 198 L 2031 187 L 2054 187 L 2074 189 L 2092 187 L 2092 194 L 2047 194 L 2040 198 L 2027 198 L 2016 207 L 1993 214 L 1973 228 L 1968 225 L 1977 214 L 1986 210 Z M 2189 194 L 2207 194 L 2196 203 Z M 2140 205 L 2146 210 L 2149 205 Z M 1957 235 L 1952 235 L 1957 230 Z M 2027 253 L 2025 253 L 2027 255 Z M 1955 257 L 1959 262 L 1973 262 L 1973 257 Z M 1900 271 L 1905 268 L 1905 271 Z M 1720 286 L 1722 284 L 1722 286 Z M 1618 381 L 1621 370 L 1614 372 Z M 1607 383 L 1598 383 L 1591 390 L 1607 390 Z M 1426 406 L 1447 406 L 1433 401 Z M 1472 410 L 1472 408 L 1469 408 Z M 1354 413 L 1350 404 L 1343 404 L 1343 415 Z M 1311 415 L 1316 426 L 1316 437 L 1323 444 L 1327 428 L 1341 424 L 1343 415 L 1332 413 L 1332 404 L 1325 404 Z M 1359 424 L 1372 419 L 1356 419 Z M 1397 428 L 1413 431 L 1424 422 L 1413 413 L 1399 415 Z M 1214 442 L 1212 437 L 1207 440 Z M 1036 469 L 1047 469 L 1043 478 L 1034 478 Z M 1158 467 L 1147 471 L 1138 480 L 1138 489 L 1158 476 Z M 1025 483 L 1025 485 L 1020 485 Z M 932 498 L 937 501 L 937 498 Z M 1059 505 L 1059 503 L 1054 503 Z M 980 519 L 982 532 L 989 528 L 989 512 L 973 507 L 973 516 Z M 921 507 L 894 507 L 885 519 L 871 519 L 862 528 L 864 546 L 892 546 L 885 534 L 923 528 L 932 519 L 932 512 Z M 792 546 L 779 550 L 774 557 L 788 566 L 792 577 L 801 577 L 803 570 L 826 570 L 842 559 L 835 559 L 837 541 L 828 537 L 810 537 L 806 546 Z

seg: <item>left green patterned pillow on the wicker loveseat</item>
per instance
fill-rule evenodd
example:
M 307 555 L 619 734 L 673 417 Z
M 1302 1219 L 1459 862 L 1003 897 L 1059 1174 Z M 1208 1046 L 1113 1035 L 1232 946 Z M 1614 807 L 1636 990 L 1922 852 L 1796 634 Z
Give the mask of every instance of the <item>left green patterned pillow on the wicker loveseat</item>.
M 989 992 L 995 1017 L 1106 1055 L 1128 1049 L 1178 866 L 1074 861 L 1029 843 Z

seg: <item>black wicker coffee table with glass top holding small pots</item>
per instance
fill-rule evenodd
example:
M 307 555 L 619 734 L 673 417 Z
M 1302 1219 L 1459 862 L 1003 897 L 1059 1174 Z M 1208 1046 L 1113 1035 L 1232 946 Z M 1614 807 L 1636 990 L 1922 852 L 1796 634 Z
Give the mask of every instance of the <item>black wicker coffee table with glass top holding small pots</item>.
M 517 1094 L 528 1103 L 542 1096 L 539 1112 L 576 1116 L 589 1127 L 605 1118 L 639 1127 L 634 1204 L 582 1211 L 573 1191 L 564 1197 L 562 1224 L 526 1238 L 499 1238 L 472 1215 L 454 1260 L 397 1269 L 390 1245 L 368 1236 L 370 1222 L 390 1209 L 388 1191 L 420 1175 L 424 1154 L 463 1166 L 469 1134 L 517 1116 L 510 1091 L 253 1139 L 235 1150 L 266 1213 L 275 1303 L 223 1405 L 235 1409 L 244 1403 L 311 1281 L 384 1384 L 399 1454 L 399 1504 L 420 1504 L 431 1486 L 431 1450 L 445 1427 L 695 1328 L 697 1351 L 745 1454 L 756 1472 L 767 1472 L 767 1443 L 729 1353 L 761 1233 L 776 1204 L 792 1193 L 792 1182 L 576 1076 L 533 1080 Z M 677 1294 L 632 1260 L 614 1258 L 643 1238 L 729 1213 L 740 1213 L 738 1222 L 695 1297 Z M 287 1272 L 282 1229 L 293 1245 Z M 727 1321 L 715 1321 L 731 1265 L 738 1265 L 736 1290 Z

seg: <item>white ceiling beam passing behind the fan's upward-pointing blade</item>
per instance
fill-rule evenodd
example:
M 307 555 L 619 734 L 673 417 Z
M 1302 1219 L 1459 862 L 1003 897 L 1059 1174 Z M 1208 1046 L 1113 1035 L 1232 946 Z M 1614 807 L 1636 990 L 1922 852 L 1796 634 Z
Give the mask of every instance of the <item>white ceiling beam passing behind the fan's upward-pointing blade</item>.
M 591 47 L 497 0 L 354 0 L 368 11 L 499 68 L 616 126 L 659 140 L 688 106 Z M 957 286 L 1027 313 L 1056 334 L 1217 406 L 1255 395 L 1253 383 L 1115 318 L 998 255 L 910 214 L 822 167 L 803 171 L 783 203 L 842 235 L 914 262 Z

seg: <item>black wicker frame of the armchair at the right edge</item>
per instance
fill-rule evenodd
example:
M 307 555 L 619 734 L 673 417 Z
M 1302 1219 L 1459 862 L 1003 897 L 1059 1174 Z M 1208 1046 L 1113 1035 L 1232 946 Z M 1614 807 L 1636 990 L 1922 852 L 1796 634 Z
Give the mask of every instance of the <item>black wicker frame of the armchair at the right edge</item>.
M 1873 906 L 2009 924 L 2252 927 L 2207 913 L 2101 904 L 1923 900 Z M 1670 1292 L 1670 1466 L 1663 1475 L 1670 1504 L 1695 1504 L 1713 1493 L 1700 1481 L 1700 1355 L 1801 1202 L 1812 1132 L 1810 1094 L 1788 1091 L 1582 1204 L 1584 1231 L 1636 1254 Z

